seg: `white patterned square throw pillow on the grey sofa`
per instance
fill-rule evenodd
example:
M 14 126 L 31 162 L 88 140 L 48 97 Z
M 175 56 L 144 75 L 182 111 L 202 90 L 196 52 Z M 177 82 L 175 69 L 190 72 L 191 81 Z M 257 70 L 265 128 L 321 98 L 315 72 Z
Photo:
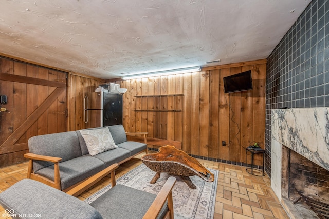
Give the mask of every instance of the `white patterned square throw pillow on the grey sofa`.
M 88 152 L 94 156 L 107 150 L 117 148 L 108 128 L 79 130 Z

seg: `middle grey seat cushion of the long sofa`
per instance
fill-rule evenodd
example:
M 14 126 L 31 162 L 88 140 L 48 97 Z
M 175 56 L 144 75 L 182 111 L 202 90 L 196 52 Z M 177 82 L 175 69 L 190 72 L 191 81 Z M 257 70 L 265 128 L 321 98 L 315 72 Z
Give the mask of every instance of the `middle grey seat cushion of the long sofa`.
M 123 148 L 116 148 L 114 150 L 104 151 L 103 153 L 93 156 L 105 163 L 105 168 L 112 164 L 120 163 L 124 159 L 130 157 L 130 151 Z

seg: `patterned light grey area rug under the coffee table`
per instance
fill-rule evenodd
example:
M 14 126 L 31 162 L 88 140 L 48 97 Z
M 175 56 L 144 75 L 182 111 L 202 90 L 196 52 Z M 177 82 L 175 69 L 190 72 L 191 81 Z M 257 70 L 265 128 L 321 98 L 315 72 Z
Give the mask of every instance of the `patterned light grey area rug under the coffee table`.
M 190 176 L 196 189 L 190 189 L 187 184 L 176 177 L 176 184 L 172 190 L 175 218 L 213 218 L 216 200 L 218 170 L 209 169 L 214 174 L 213 182 L 206 182 L 198 176 Z M 168 177 L 167 173 L 161 173 L 161 177 L 155 184 L 150 184 L 155 172 L 144 164 L 126 173 L 117 180 L 117 184 L 122 184 L 142 191 L 158 194 L 162 186 L 165 185 Z M 96 192 L 85 200 L 90 204 L 99 196 L 111 189 L 111 185 Z

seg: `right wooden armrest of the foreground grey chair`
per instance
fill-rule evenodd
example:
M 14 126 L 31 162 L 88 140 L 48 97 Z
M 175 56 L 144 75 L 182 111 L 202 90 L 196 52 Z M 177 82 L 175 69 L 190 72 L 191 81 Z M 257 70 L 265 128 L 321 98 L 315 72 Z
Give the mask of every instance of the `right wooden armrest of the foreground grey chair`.
M 143 218 L 145 219 L 156 218 L 167 200 L 168 200 L 168 212 L 164 218 L 171 218 L 171 219 L 174 218 L 173 196 L 171 191 L 175 183 L 176 183 L 176 178 L 170 176 L 167 182 L 165 183 L 165 185 L 163 185 L 159 194 L 156 196 L 149 210 L 143 216 Z

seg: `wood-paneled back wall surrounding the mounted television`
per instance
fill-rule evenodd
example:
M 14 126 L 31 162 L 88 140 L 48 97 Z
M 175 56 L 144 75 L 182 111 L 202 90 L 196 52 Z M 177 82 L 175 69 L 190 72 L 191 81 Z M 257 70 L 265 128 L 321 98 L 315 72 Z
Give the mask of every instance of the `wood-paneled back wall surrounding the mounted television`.
M 247 70 L 252 72 L 253 90 L 225 94 L 223 77 Z M 123 96 L 124 127 L 180 141 L 189 154 L 245 162 L 245 147 L 258 142 L 264 148 L 265 77 L 266 60 L 260 60 L 122 81 L 121 87 L 128 89 Z M 157 111 L 173 109 L 181 111 Z M 261 157 L 255 156 L 255 164 L 262 165 Z

